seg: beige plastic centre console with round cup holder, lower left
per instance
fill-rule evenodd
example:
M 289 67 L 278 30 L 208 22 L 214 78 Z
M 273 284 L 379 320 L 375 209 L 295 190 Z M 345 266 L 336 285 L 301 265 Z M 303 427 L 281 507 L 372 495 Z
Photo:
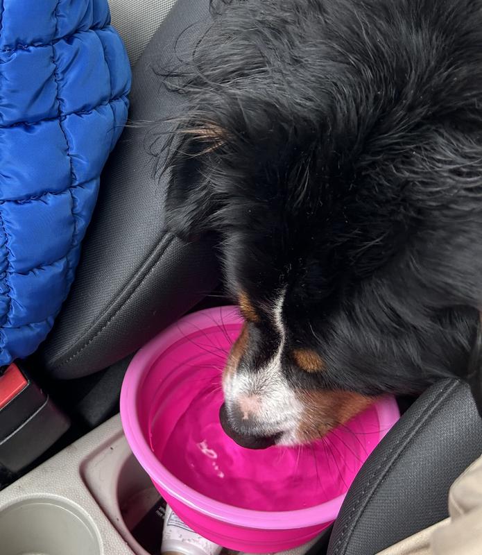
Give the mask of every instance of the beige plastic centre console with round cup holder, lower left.
M 1 491 L 1 555 L 146 555 L 123 520 L 114 526 L 107 516 L 119 518 L 109 487 L 130 454 L 126 445 L 115 416 Z M 103 458 L 112 463 L 107 475 Z M 105 513 L 87 480 L 110 496 Z

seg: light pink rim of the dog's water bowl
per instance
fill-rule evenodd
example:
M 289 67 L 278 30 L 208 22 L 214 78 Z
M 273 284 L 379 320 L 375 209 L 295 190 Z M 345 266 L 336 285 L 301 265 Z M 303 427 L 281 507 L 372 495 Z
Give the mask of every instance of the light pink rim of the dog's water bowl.
M 188 325 L 192 327 L 194 332 L 200 328 L 216 327 L 218 321 L 221 321 L 223 325 L 239 324 L 242 322 L 242 318 L 238 309 L 233 306 L 209 308 L 188 314 L 148 341 L 133 357 L 123 380 L 120 402 L 123 431 L 132 452 L 150 478 L 160 484 L 171 497 L 191 507 L 191 509 L 221 522 L 240 527 L 256 527 L 269 530 L 300 529 L 332 522 L 340 511 L 346 493 L 325 503 L 295 511 L 268 512 L 241 509 L 211 499 L 186 486 L 164 468 L 150 450 L 150 445 L 144 438 L 136 411 L 137 391 L 144 379 L 146 370 L 150 368 L 163 350 L 181 339 L 180 327 Z M 399 418 L 399 409 L 395 398 L 391 395 L 376 402 L 375 409 L 380 423 L 379 441 L 381 441 Z M 320 517 L 322 517 L 322 520 L 320 520 Z

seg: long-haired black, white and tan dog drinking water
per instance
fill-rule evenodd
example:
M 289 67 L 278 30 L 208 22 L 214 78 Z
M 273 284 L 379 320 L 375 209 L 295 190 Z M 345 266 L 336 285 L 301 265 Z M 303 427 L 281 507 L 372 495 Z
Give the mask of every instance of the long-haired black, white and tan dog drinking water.
M 385 393 L 480 383 L 482 2 L 212 11 L 166 210 L 180 237 L 216 234 L 246 320 L 226 432 L 302 444 Z

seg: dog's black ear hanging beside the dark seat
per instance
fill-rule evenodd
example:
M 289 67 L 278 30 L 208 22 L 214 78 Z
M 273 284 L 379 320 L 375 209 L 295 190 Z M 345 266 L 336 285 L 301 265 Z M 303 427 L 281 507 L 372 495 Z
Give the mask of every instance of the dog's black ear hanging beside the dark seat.
M 225 142 L 221 128 L 212 124 L 180 126 L 169 156 L 166 226 L 191 240 L 212 228 L 217 202 L 209 180 L 209 164 Z

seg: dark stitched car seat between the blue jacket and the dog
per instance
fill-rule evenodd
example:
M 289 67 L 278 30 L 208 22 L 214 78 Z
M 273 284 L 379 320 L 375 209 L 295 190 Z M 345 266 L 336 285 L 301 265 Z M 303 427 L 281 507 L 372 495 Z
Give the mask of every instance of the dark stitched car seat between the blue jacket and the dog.
M 144 1 L 135 3 L 144 6 Z M 155 3 L 162 4 L 145 4 Z M 129 23 L 121 30 L 135 56 L 140 42 L 131 43 L 130 33 L 153 12 L 147 8 L 135 19 L 139 23 L 130 26 L 128 16 L 115 10 L 118 4 L 130 10 L 132 2 L 115 0 L 112 8 L 114 21 Z M 39 352 L 53 377 L 82 377 L 123 359 L 196 305 L 218 281 L 208 239 L 187 244 L 164 231 L 167 176 L 155 175 L 150 152 L 153 141 L 162 141 L 169 130 L 165 119 L 182 112 L 184 102 L 184 95 L 164 87 L 157 69 L 172 64 L 176 43 L 192 50 L 196 24 L 208 15 L 208 1 L 175 3 L 132 69 L 129 118 L 136 123 L 123 131 L 107 162 L 71 293 Z M 189 33 L 183 33 L 186 28 Z M 179 42 L 180 35 L 188 43 Z

